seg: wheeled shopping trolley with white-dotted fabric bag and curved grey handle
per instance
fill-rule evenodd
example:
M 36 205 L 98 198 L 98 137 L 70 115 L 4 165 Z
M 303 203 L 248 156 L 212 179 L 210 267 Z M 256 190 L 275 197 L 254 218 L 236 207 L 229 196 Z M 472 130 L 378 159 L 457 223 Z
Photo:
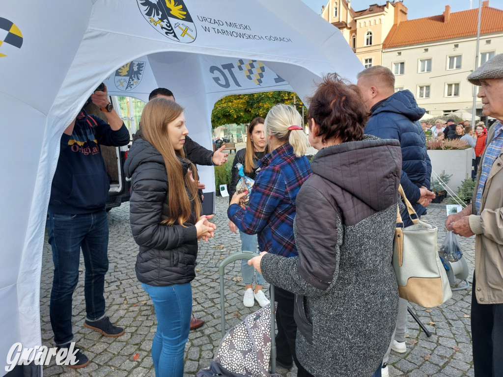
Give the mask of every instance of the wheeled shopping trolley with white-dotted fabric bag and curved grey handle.
M 231 328 L 225 333 L 225 266 L 241 259 L 251 259 L 258 254 L 241 251 L 227 256 L 218 266 L 220 275 L 220 314 L 222 320 L 222 341 L 218 346 L 210 366 L 201 369 L 197 377 L 282 377 L 276 373 L 276 344 L 274 287 L 271 286 L 271 303 Z M 269 359 L 271 358 L 271 373 Z

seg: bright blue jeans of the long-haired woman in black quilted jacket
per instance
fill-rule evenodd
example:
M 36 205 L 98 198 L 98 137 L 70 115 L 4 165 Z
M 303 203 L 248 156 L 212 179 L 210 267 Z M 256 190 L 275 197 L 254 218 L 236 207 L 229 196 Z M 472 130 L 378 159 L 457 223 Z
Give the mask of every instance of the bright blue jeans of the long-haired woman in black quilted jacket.
M 192 313 L 190 283 L 153 287 L 141 283 L 154 304 L 157 331 L 152 340 L 155 377 L 182 377 Z

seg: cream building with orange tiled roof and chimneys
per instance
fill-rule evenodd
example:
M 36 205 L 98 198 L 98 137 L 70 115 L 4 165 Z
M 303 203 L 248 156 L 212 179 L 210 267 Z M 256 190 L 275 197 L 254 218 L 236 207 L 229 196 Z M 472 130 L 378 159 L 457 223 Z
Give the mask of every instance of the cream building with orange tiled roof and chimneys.
M 395 90 L 409 89 L 433 116 L 472 112 L 478 8 L 409 20 L 394 26 L 383 42 L 382 65 L 395 74 Z M 503 53 L 503 10 L 484 1 L 478 65 Z M 477 101 L 477 115 L 481 103 Z

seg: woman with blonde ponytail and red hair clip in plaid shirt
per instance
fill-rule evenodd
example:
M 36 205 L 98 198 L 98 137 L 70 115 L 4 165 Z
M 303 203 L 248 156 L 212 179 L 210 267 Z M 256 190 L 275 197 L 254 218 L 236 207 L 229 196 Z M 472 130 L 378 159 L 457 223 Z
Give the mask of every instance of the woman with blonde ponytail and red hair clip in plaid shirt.
M 264 123 L 269 154 L 259 162 L 261 170 L 249 193 L 249 204 L 241 208 L 241 198 L 248 193 L 236 193 L 227 210 L 227 216 L 239 230 L 258 234 L 261 251 L 287 258 L 298 255 L 293 236 L 295 201 L 300 186 L 311 174 L 305 156 L 309 143 L 301 125 L 302 117 L 293 106 L 279 104 L 269 110 Z M 278 288 L 275 299 L 276 362 L 290 368 L 294 361 L 298 376 L 309 375 L 302 374 L 302 365 L 295 355 L 294 295 Z

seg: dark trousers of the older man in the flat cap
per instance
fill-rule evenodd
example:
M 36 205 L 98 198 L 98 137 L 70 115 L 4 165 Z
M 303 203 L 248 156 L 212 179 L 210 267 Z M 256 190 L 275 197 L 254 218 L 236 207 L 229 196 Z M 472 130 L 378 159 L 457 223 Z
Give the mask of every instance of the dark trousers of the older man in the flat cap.
M 473 274 L 471 331 L 475 377 L 503 376 L 503 304 L 479 304 Z

